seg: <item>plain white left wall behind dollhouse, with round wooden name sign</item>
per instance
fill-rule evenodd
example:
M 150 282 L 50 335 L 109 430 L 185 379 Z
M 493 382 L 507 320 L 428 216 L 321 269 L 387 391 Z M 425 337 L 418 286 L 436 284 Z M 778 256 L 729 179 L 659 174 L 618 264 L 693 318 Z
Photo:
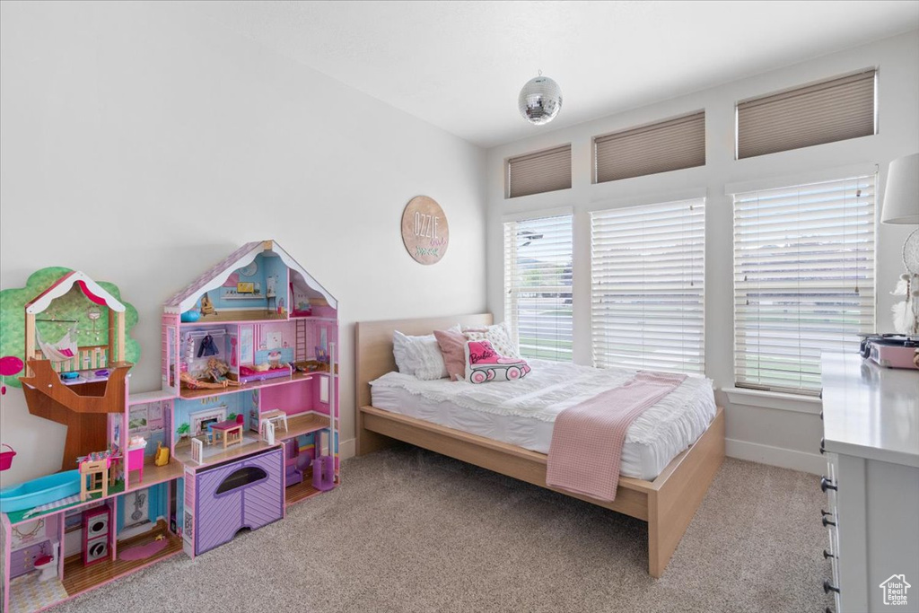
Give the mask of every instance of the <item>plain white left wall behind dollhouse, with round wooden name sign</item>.
M 41 267 L 112 281 L 140 313 L 132 392 L 159 387 L 159 315 L 240 244 L 276 239 L 340 301 L 344 450 L 356 321 L 481 312 L 484 153 L 172 3 L 0 13 L 0 285 Z M 451 242 L 416 264 L 409 199 Z M 8 485 L 60 468 L 63 426 L 0 398 Z

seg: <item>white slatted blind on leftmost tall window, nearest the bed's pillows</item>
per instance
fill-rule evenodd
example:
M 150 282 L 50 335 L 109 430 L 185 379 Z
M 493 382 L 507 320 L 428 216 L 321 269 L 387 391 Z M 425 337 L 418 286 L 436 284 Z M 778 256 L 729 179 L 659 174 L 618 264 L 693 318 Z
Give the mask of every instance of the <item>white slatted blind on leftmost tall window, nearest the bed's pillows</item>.
M 525 358 L 572 359 L 572 216 L 505 223 L 505 318 Z

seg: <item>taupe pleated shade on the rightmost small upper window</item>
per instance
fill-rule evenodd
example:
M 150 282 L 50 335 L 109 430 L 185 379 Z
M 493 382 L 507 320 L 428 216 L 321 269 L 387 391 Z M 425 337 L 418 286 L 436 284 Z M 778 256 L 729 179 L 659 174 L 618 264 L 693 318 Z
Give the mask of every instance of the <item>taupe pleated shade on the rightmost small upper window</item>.
M 737 105 L 737 158 L 875 133 L 870 70 L 745 100 Z

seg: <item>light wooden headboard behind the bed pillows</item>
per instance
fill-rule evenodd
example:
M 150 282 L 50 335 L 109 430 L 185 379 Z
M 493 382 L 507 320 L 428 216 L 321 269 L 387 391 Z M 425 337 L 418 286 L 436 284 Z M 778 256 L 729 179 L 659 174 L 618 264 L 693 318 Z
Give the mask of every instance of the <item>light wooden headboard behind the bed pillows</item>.
M 429 335 L 435 330 L 446 330 L 454 324 L 469 326 L 491 325 L 492 313 L 429 317 L 426 319 L 394 319 L 388 322 L 358 322 L 355 324 L 355 401 L 357 407 L 370 403 L 370 381 L 396 369 L 392 357 L 392 332 L 406 335 Z

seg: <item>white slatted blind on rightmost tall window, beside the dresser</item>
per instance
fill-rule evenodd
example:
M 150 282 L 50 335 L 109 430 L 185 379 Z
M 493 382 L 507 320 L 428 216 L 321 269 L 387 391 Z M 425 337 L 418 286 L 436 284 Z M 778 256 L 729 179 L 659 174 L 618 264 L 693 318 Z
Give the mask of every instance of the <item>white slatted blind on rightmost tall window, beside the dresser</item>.
M 874 331 L 875 176 L 734 195 L 738 387 L 815 395 Z

